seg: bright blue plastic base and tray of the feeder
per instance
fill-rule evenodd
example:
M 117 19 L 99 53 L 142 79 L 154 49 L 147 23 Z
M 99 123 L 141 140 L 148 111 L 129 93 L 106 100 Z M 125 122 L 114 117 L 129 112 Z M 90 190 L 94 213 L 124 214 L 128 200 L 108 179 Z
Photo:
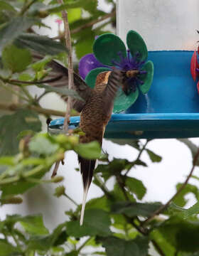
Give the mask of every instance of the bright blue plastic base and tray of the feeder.
M 199 95 L 190 75 L 193 51 L 151 51 L 154 81 L 147 95 L 139 94 L 134 105 L 122 114 L 112 114 L 105 138 L 160 139 L 199 137 Z M 63 118 L 50 122 L 62 129 Z M 70 118 L 70 128 L 80 117 Z

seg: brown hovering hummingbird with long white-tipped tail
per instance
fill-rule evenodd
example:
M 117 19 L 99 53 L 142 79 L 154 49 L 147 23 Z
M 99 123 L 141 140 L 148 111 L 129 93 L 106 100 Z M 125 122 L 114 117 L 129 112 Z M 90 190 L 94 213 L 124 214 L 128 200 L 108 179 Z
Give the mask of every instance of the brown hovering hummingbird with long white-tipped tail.
M 34 55 L 41 59 L 41 56 Z M 48 63 L 51 68 L 48 74 L 48 82 L 55 87 L 63 87 L 68 83 L 68 69 L 60 65 L 55 60 Z M 83 135 L 80 135 L 80 143 L 97 141 L 102 146 L 104 131 L 112 116 L 114 107 L 114 97 L 117 90 L 122 87 L 124 74 L 121 70 L 113 68 L 112 71 L 99 73 L 96 78 L 95 87 L 89 87 L 82 78 L 76 73 L 74 75 L 73 89 L 84 100 L 72 100 L 72 108 L 80 112 L 80 129 Z M 56 80 L 56 78 L 58 78 Z M 65 96 L 62 96 L 66 100 Z M 80 225 L 83 223 L 87 193 L 92 181 L 93 172 L 97 167 L 96 160 L 84 159 L 78 156 L 80 164 L 80 173 L 82 174 L 83 198 L 82 210 L 80 214 Z

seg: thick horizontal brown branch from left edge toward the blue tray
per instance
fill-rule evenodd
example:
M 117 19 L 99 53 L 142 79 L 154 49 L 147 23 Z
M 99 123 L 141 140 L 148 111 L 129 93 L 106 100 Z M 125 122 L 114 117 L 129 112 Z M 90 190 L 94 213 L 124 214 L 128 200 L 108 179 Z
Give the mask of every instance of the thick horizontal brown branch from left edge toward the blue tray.
M 26 108 L 29 110 L 34 110 L 38 112 L 39 114 L 44 114 L 44 115 L 55 115 L 58 117 L 65 117 L 65 112 L 58 111 L 58 110 L 49 110 L 45 109 L 43 107 L 38 107 L 38 106 L 33 106 L 33 105 L 25 105 L 25 104 L 14 104 L 14 103 L 6 103 L 6 102 L 0 102 L 0 110 L 9 110 L 9 111 L 16 111 L 16 110 L 21 110 L 22 108 Z

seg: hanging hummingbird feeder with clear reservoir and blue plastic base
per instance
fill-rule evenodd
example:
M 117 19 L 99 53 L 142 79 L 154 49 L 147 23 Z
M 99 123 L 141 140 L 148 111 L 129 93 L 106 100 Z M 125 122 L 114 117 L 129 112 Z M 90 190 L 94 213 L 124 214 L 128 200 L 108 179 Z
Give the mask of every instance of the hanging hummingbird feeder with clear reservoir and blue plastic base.
M 131 6 L 133 7 L 130 8 Z M 135 95 L 136 90 L 131 91 L 131 100 L 133 99 L 131 106 L 127 109 L 121 108 L 120 110 L 123 111 L 120 114 L 112 114 L 104 137 L 109 139 L 199 137 L 199 95 L 197 82 L 193 80 L 193 72 L 195 78 L 198 72 L 197 55 L 195 63 L 192 57 L 195 43 L 199 39 L 196 33 L 199 27 L 198 1 L 194 0 L 190 4 L 183 0 L 179 4 L 174 0 L 164 3 L 162 1 L 154 3 L 153 0 L 119 0 L 117 7 L 119 36 L 125 41 L 126 34 L 132 26 L 134 31 L 141 34 L 149 50 L 147 60 L 154 63 L 154 79 L 146 94 Z M 96 41 L 100 41 L 100 37 Z M 128 47 L 129 44 L 127 41 Z M 95 45 L 94 52 L 96 52 Z M 129 48 L 131 50 L 131 46 Z M 133 55 L 132 51 L 131 55 Z M 191 59 L 193 78 L 190 73 Z M 101 59 L 100 61 L 103 62 Z M 100 67 L 99 63 L 97 65 L 94 68 Z M 107 63 L 105 65 L 104 70 L 109 69 L 109 65 Z M 148 73 L 150 72 L 149 70 Z M 88 84 L 92 79 L 85 77 Z M 139 85 L 140 91 L 143 90 Z M 117 110 L 116 108 L 115 112 L 120 111 Z M 62 129 L 63 120 L 50 122 L 50 129 Z M 70 128 L 77 127 L 79 122 L 80 117 L 71 117 Z

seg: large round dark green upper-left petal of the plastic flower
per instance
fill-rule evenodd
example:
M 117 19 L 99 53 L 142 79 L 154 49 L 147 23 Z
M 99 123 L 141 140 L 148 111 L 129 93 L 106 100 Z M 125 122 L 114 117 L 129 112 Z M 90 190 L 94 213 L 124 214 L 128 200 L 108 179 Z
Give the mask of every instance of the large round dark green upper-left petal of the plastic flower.
M 101 35 L 94 42 L 93 53 L 97 60 L 104 65 L 114 66 L 113 60 L 120 62 L 119 52 L 123 57 L 127 56 L 124 43 L 119 36 L 112 33 Z

